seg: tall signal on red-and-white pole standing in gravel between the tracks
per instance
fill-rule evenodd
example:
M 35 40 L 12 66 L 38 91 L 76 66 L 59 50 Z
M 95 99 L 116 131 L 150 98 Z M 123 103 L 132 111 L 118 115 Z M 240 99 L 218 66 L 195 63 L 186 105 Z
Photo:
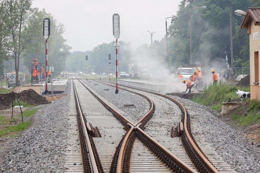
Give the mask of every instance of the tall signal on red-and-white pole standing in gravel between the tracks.
M 113 35 L 116 38 L 116 42 L 114 43 L 114 47 L 116 47 L 116 92 L 115 94 L 118 93 L 118 83 L 117 83 L 117 76 L 118 76 L 118 72 L 117 72 L 117 53 L 118 53 L 118 48 L 120 46 L 120 43 L 117 42 L 117 39 L 119 38 L 120 35 L 120 25 L 119 25 L 119 15 L 117 13 L 115 13 L 113 15 Z

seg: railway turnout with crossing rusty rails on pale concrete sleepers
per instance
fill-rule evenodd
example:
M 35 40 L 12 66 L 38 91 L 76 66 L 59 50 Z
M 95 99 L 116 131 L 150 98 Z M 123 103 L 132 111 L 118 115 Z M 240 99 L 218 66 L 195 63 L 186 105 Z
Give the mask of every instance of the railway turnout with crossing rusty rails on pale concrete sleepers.
M 78 110 L 82 110 L 84 114 L 79 114 L 82 114 L 82 116 L 85 117 L 84 122 L 87 124 L 87 126 L 89 126 L 86 130 L 88 132 L 88 137 L 90 137 L 94 143 L 92 146 L 96 148 L 93 149 L 89 147 L 86 150 L 94 150 L 94 153 L 97 154 L 97 156 L 94 157 L 96 157 L 95 162 L 99 162 L 96 168 L 98 172 L 219 172 L 210 163 L 210 161 L 208 161 L 208 159 L 207 161 L 210 164 L 203 162 L 203 157 L 205 156 L 200 151 L 196 151 L 197 149 L 200 150 L 198 145 L 196 146 L 197 149 L 196 147 L 195 149 L 188 149 L 190 147 L 189 143 L 192 145 L 194 141 L 191 139 L 193 142 L 188 142 L 187 138 L 189 137 L 186 137 L 186 131 L 189 135 L 191 132 L 188 132 L 190 127 L 186 127 L 185 123 L 189 124 L 189 119 L 185 119 L 185 115 L 187 116 L 186 110 L 184 107 L 182 108 L 182 105 L 179 104 L 178 101 L 175 101 L 171 97 L 168 98 L 168 96 L 150 92 L 152 95 L 157 94 L 157 96 L 153 96 L 152 99 L 157 103 L 159 103 L 157 101 L 160 100 L 159 97 L 164 97 L 168 99 L 168 102 L 165 103 L 165 105 L 168 105 L 169 109 L 175 105 L 173 106 L 174 110 L 172 111 L 178 112 L 178 109 L 182 108 L 183 116 L 179 111 L 179 113 L 176 113 L 175 116 L 171 117 L 172 119 L 169 122 L 169 117 L 162 118 L 160 117 L 160 111 L 155 111 L 153 101 L 149 97 L 132 90 L 127 90 L 128 92 L 145 97 L 147 102 L 150 104 L 150 109 L 147 111 L 146 115 L 144 115 L 143 118 L 140 118 L 138 122 L 132 122 L 133 120 L 131 118 L 129 118 L 131 121 L 128 120 L 128 118 L 126 118 L 127 115 L 123 115 L 124 113 L 118 111 L 115 106 L 107 104 L 109 101 L 98 97 L 98 94 L 95 94 L 95 92 L 88 88 L 86 84 L 75 79 L 73 81 L 75 83 L 74 86 L 77 86 L 77 90 L 81 91 L 81 94 L 78 95 Z M 74 92 L 77 93 L 76 87 L 74 88 Z M 86 88 L 88 92 L 83 92 L 83 90 L 86 90 Z M 121 89 L 126 90 L 125 88 Z M 75 98 L 76 97 L 77 96 L 75 96 Z M 97 99 L 99 101 L 97 101 Z M 178 105 L 174 104 L 173 102 L 177 103 Z M 161 110 L 160 106 L 161 105 L 158 104 L 158 110 Z M 153 118 L 153 123 L 157 121 L 156 123 L 158 124 L 160 121 L 161 124 L 164 125 L 157 125 L 157 128 L 154 130 L 154 132 L 147 130 L 149 128 L 154 128 L 154 126 L 151 125 L 153 123 L 149 122 L 151 118 Z M 182 137 L 179 138 L 171 138 L 171 135 L 174 136 L 174 134 L 172 134 L 172 130 L 170 132 L 167 124 L 176 123 L 179 121 L 178 119 L 181 120 L 184 124 L 183 131 L 185 136 L 182 135 Z M 91 124 L 89 124 L 89 122 L 91 122 Z M 182 123 L 179 123 L 179 130 L 181 129 L 181 124 Z M 96 131 L 100 131 L 99 136 L 93 137 L 93 135 L 90 134 L 91 131 L 95 131 L 93 130 L 93 127 L 96 128 Z M 85 139 L 85 141 L 86 140 L 87 139 Z M 187 141 L 186 144 L 185 140 Z M 182 145 L 186 145 L 187 147 L 183 148 Z M 196 145 L 196 143 L 194 143 L 194 145 Z M 81 146 L 81 148 L 83 147 Z M 189 156 L 185 154 L 185 150 L 187 153 L 189 153 Z M 195 150 L 195 153 L 197 152 L 197 155 L 203 155 L 201 156 L 202 158 L 199 159 L 198 156 L 193 153 L 193 150 Z M 198 154 L 198 152 L 200 153 Z M 176 157 L 173 153 L 178 157 Z M 89 155 L 90 154 L 88 154 L 88 158 Z M 94 163 L 94 161 L 83 161 L 83 163 L 84 162 L 90 164 Z M 200 163 L 197 164 L 198 162 Z M 94 166 L 95 165 L 92 164 L 90 169 L 94 168 Z M 219 169 L 221 170 L 221 168 Z M 84 168 L 84 171 L 85 170 L 86 168 Z M 95 172 L 94 170 L 91 171 Z

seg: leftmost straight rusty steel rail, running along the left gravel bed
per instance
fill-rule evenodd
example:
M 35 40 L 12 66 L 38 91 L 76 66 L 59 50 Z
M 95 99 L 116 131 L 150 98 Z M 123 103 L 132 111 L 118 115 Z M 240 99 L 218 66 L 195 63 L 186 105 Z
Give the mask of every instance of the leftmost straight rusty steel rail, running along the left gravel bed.
M 79 104 L 79 101 L 78 101 L 78 96 L 77 96 L 77 91 L 76 91 L 76 88 L 75 88 L 75 85 L 74 85 L 74 81 L 73 81 L 73 88 L 74 88 L 74 92 L 75 92 L 76 102 L 77 102 L 77 105 L 78 105 L 78 112 L 80 114 L 81 125 L 83 127 L 83 133 L 84 133 L 84 136 L 85 136 L 85 143 L 86 143 L 86 146 L 88 147 L 89 161 L 90 161 L 92 173 L 98 173 L 98 168 L 97 168 L 97 165 L 96 165 L 95 156 L 94 156 L 91 144 L 90 144 L 90 140 L 88 138 L 88 131 L 86 129 L 86 125 L 84 123 L 83 115 L 82 115 L 82 112 L 81 112 L 81 109 L 80 109 L 80 104 Z

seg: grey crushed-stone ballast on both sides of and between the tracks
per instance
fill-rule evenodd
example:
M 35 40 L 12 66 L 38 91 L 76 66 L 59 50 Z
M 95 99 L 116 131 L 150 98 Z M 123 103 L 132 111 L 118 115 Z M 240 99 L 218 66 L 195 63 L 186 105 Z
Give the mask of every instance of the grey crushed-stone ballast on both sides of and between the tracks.
M 148 102 L 139 96 L 134 97 L 133 94 L 120 89 L 119 94 L 115 94 L 115 87 L 95 81 L 82 81 L 127 114 L 142 115 L 149 107 Z M 32 124 L 9 144 L 9 153 L 1 156 L 2 172 L 64 172 L 70 87 L 68 80 L 65 88 L 67 96 L 51 104 L 34 107 L 39 110 L 34 114 Z M 185 106 L 191 116 L 191 123 L 196 121 L 202 127 L 200 135 L 207 139 L 206 142 L 215 148 L 235 171 L 260 172 L 259 147 L 252 145 L 237 129 L 223 122 L 219 113 L 190 100 L 172 97 Z M 133 103 L 134 109 L 123 106 Z M 196 134 L 193 135 L 196 139 Z

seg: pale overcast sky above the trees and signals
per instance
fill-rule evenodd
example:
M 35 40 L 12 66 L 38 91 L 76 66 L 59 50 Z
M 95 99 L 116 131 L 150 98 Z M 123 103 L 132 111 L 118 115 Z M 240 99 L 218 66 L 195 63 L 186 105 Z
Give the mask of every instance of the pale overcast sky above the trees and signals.
M 115 41 L 113 14 L 120 16 L 120 41 L 130 41 L 132 48 L 161 40 L 165 34 L 165 18 L 176 15 L 181 0 L 34 0 L 32 7 L 64 24 L 63 37 L 70 51 L 91 51 L 103 43 Z M 48 17 L 48 16 L 47 16 Z M 167 19 L 169 26 L 171 19 Z M 50 35 L 51 37 L 51 35 Z

